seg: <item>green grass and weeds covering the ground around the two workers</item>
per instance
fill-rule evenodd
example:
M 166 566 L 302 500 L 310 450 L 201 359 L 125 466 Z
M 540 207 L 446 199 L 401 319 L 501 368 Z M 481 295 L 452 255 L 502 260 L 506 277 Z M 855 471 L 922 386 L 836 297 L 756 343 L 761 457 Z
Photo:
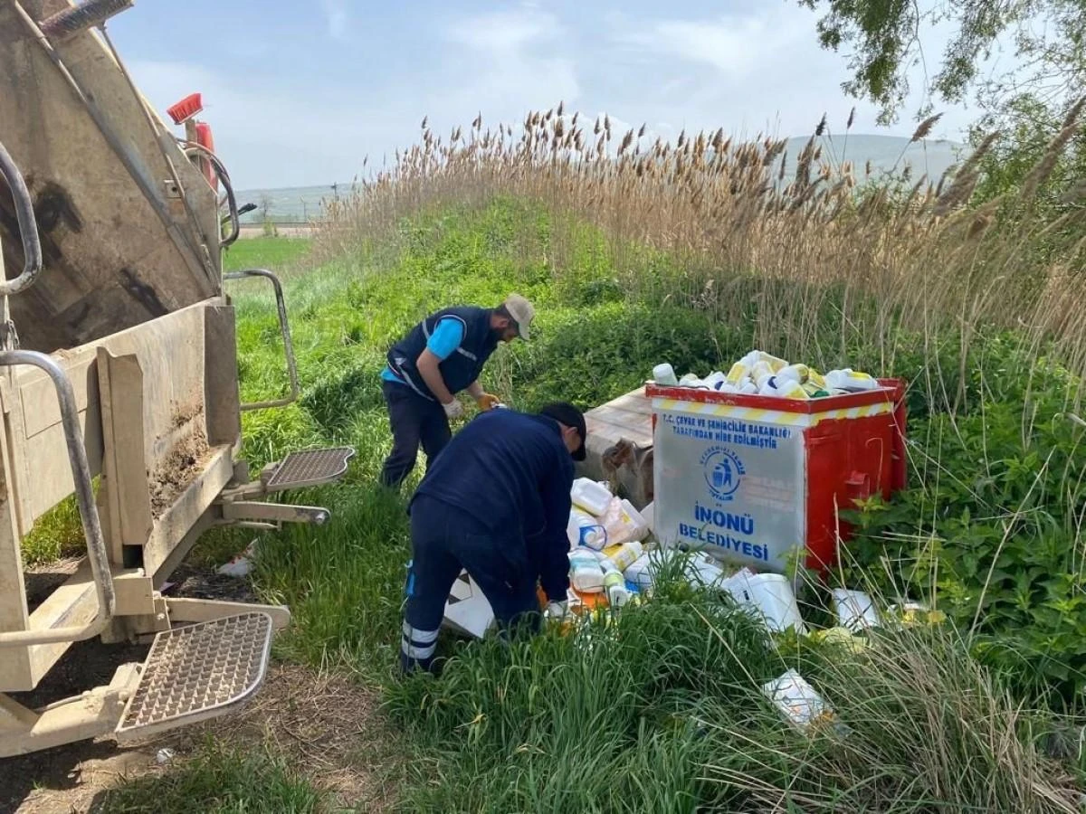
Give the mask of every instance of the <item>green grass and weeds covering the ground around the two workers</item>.
M 287 408 L 247 414 L 245 454 L 254 467 L 319 443 L 348 443 L 358 455 L 343 483 L 292 496 L 328 506 L 332 519 L 320 529 L 264 535 L 255 582 L 268 600 L 288 603 L 293 614 L 291 628 L 277 639 L 277 658 L 314 666 L 346 663 L 384 688 L 388 713 L 406 733 L 411 783 L 402 810 L 1071 811 L 1063 802 L 1065 787 L 1082 776 L 1081 767 L 1044 756 L 1040 746 L 1055 732 L 1050 717 L 1030 712 L 1024 696 L 1006 689 L 1014 684 L 1002 683 L 998 673 L 1007 665 L 1006 653 L 1000 661 L 990 647 L 978 649 L 955 627 L 932 636 L 876 637 L 871 659 L 807 640 L 774 648 L 749 618 L 680 585 L 615 624 L 579 636 L 551 633 L 509 649 L 443 636 L 441 652 L 452 658 L 440 681 L 395 677 L 409 558 L 404 497 L 414 480 L 404 496 L 376 486 L 390 443 L 378 373 L 394 339 L 434 308 L 493 305 L 518 291 L 536 303 L 536 339 L 500 348 L 484 372 L 485 385 L 514 407 L 561 397 L 588 408 L 637 386 L 658 361 L 669 360 L 680 372 L 720 367 L 754 346 L 765 330 L 753 306 L 742 319 L 721 323 L 689 300 L 657 296 L 651 285 L 635 295 L 622 282 L 629 269 L 616 267 L 594 230 L 572 234 L 565 246 L 568 259 L 556 268 L 547 259 L 547 219 L 535 207 L 498 201 L 477 214 L 405 222 L 397 244 L 285 280 L 302 398 Z M 280 258 L 293 251 L 283 250 L 281 239 L 239 241 L 235 251 L 244 243 L 253 244 L 242 250 L 252 254 L 244 263 L 235 254 L 231 264 L 275 268 L 274 258 L 260 255 L 262 245 Z M 664 256 L 646 262 L 660 288 L 685 274 L 678 260 Z M 239 315 L 242 396 L 279 396 L 287 377 L 272 297 L 254 282 L 231 283 L 229 291 Z M 810 317 L 832 325 L 832 296 L 822 303 L 825 313 Z M 1013 334 L 994 331 L 978 336 L 964 359 L 952 338 L 902 335 L 893 359 L 884 359 L 880 347 L 849 340 L 823 348 L 817 360 L 893 372 L 910 383 L 915 488 L 902 498 L 907 509 L 891 514 L 896 547 L 889 550 L 896 559 L 892 565 L 880 560 L 887 544 L 874 521 L 861 530 L 857 546 L 861 570 L 886 565 L 886 582 L 874 587 L 888 593 L 905 571 L 911 575 L 908 587 L 923 587 L 924 574 L 913 560 L 924 539 L 907 531 L 924 518 L 943 518 L 948 505 L 960 517 L 982 469 L 996 471 L 1003 491 L 985 493 L 978 506 L 998 511 L 980 513 L 974 507 L 964 523 L 974 531 L 1010 529 L 1021 550 L 1033 552 L 1031 569 L 1070 568 L 1073 563 L 1060 557 L 1074 549 L 1069 524 L 1083 505 L 1075 488 L 1065 488 L 1050 505 L 1058 523 L 1046 533 L 1062 540 L 1059 552 L 1049 556 L 1034 545 L 1030 535 L 1037 524 L 1002 525 L 1022 508 L 1034 466 L 1023 461 L 1035 443 L 1058 445 L 1061 472 L 1078 471 L 1077 436 L 1060 434 L 1066 428 L 1039 442 L 1021 431 L 1031 411 L 1038 428 L 1062 427 L 1055 415 L 1065 403 L 1065 373 L 1036 364 Z M 927 381 L 933 360 L 944 371 L 936 386 Z M 1002 406 L 993 412 L 996 404 Z M 986 416 L 998 422 L 986 422 Z M 998 432 L 992 434 L 993 428 Z M 919 461 L 937 456 L 948 440 L 958 444 L 948 459 L 954 471 L 923 469 Z M 1055 473 L 1052 479 L 1046 488 L 1058 487 Z M 937 491 L 961 482 L 967 485 L 959 492 Z M 937 501 L 924 503 L 932 495 Z M 940 574 L 949 578 L 946 569 L 957 565 L 956 584 L 975 594 L 988 563 L 1008 547 L 994 550 L 985 548 L 988 538 L 969 538 L 956 548 L 951 531 L 939 527 L 947 535 Z M 195 556 L 213 559 L 247 540 L 209 535 Z M 972 575 L 960 568 L 967 557 L 973 558 Z M 1027 599 L 1038 607 L 1070 601 L 1077 585 L 1070 580 L 1045 587 L 1052 592 L 1050 600 Z M 1066 627 L 1068 620 L 1077 625 L 1081 613 L 1076 606 L 1068 608 L 1062 616 L 1031 618 L 1039 625 L 1036 635 L 1059 647 L 1050 641 L 1041 652 L 1037 641 L 1028 643 L 1033 650 L 1015 654 L 1016 676 L 1043 675 L 1045 664 L 1066 664 L 1069 653 L 1084 650 L 1083 639 Z M 1006 619 L 993 616 L 984 641 L 1013 640 L 1008 637 L 1020 633 L 1013 628 L 1020 622 Z M 838 709 L 853 733 L 846 742 L 798 734 L 761 698 L 758 686 L 787 666 L 800 669 Z M 1074 682 L 1069 686 L 1073 700 Z M 217 753 L 205 758 L 126 787 L 127 799 L 153 800 L 163 812 L 191 810 L 171 794 L 193 783 L 194 799 L 202 799 L 199 788 Z M 274 762 L 224 765 L 227 776 L 216 783 L 249 794 L 245 811 L 274 810 L 282 804 L 285 788 L 296 791 L 285 785 Z M 266 788 L 247 785 L 253 776 L 266 777 Z

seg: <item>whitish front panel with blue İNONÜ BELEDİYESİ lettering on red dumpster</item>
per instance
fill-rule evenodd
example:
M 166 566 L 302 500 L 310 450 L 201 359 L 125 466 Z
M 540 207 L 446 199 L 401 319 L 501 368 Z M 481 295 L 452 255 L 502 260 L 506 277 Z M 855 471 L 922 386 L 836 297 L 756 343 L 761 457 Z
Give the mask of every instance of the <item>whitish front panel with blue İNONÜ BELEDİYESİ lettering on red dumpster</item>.
M 783 571 L 805 537 L 800 428 L 656 410 L 656 535 Z

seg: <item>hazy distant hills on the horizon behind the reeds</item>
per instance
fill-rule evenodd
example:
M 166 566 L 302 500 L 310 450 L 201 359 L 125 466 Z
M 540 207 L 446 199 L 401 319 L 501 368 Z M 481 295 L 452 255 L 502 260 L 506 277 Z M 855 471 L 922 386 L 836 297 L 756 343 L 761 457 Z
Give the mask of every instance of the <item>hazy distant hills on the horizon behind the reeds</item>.
M 788 139 L 786 177 L 796 171 L 796 158 L 804 149 L 809 136 Z M 900 171 L 906 164 L 912 165 L 912 178 L 919 180 L 926 174 L 933 182 L 938 182 L 942 175 L 954 164 L 962 161 L 958 151 L 968 154 L 968 147 L 952 141 L 918 141 L 899 136 L 858 136 L 851 133 L 846 139 L 843 136 L 830 139 L 819 137 L 816 143 L 822 147 L 822 160 L 830 160 L 835 166 L 842 161 L 850 161 L 856 167 L 856 178 L 863 181 L 863 170 L 867 162 L 871 162 L 871 177 L 877 180 L 887 173 Z M 832 156 L 832 157 L 831 157 Z M 778 160 L 780 161 L 780 160 Z M 264 207 L 268 217 L 279 224 L 303 222 L 319 215 L 321 203 L 334 196 L 349 195 L 351 182 L 340 182 L 332 189 L 331 185 L 320 187 L 291 187 L 282 189 L 240 190 L 237 193 L 238 205 L 254 203 L 258 207 L 242 216 L 243 224 L 260 224 L 264 220 Z

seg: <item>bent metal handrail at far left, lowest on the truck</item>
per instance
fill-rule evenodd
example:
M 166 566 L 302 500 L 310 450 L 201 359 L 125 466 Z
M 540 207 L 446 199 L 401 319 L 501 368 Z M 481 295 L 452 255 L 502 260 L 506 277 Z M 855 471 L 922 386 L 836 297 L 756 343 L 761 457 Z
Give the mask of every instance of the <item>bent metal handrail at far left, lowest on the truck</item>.
M 64 427 L 64 441 L 67 444 L 76 500 L 79 504 L 79 520 L 83 521 L 83 534 L 87 540 L 87 559 L 98 594 L 98 611 L 94 618 L 85 625 L 53 627 L 48 631 L 0 633 L 0 647 L 83 641 L 97 636 L 109 625 L 116 611 L 116 596 L 113 590 L 110 558 L 105 550 L 105 540 L 102 537 L 102 524 L 98 517 L 98 507 L 94 505 L 94 487 L 90 479 L 90 465 L 87 462 L 87 448 L 84 446 L 83 430 L 79 427 L 75 392 L 72 390 L 72 382 L 64 369 L 46 354 L 36 351 L 0 351 L 0 367 L 14 367 L 16 365 L 30 365 L 43 370 L 56 389 L 56 398 L 61 408 L 61 423 Z

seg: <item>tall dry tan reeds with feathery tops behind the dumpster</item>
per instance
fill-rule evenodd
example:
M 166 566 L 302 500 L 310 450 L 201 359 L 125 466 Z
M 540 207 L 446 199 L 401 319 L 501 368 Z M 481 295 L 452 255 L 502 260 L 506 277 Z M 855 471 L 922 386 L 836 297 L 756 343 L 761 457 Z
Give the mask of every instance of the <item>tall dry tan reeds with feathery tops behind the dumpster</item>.
M 609 118 L 589 122 L 561 105 L 530 113 L 518 131 L 484 128 L 477 117 L 442 138 L 424 119 L 420 143 L 329 204 L 320 242 L 358 251 L 405 217 L 513 196 L 551 213 L 556 275 L 570 263 L 564 228 L 586 220 L 606 237 L 633 295 L 711 308 L 722 320 L 755 307 L 752 341 L 785 355 L 820 363 L 874 342 L 888 370 L 899 330 L 949 330 L 968 345 L 996 326 L 1021 330 L 1027 343 L 1055 340 L 1083 372 L 1086 212 L 1068 204 L 1053 225 L 1031 205 L 1078 127 L 1079 107 L 1030 175 L 1022 205 L 1005 199 L 981 208 L 970 200 L 990 139 L 948 177 L 909 183 L 905 170 L 893 185 L 874 182 L 870 165 L 858 179 L 818 136 L 786 176 L 785 141 L 740 142 L 722 129 L 683 132 L 672 144 L 646 139 L 644 127 L 619 135 Z M 683 272 L 647 272 L 655 253 Z

